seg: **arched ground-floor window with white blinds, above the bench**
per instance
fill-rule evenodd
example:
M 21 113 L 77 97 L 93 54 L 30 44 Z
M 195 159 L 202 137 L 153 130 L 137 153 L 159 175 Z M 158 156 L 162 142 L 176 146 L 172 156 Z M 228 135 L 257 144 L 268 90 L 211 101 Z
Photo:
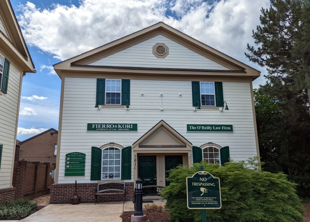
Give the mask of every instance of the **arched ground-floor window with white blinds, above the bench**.
M 102 149 L 102 179 L 121 179 L 121 149 Z

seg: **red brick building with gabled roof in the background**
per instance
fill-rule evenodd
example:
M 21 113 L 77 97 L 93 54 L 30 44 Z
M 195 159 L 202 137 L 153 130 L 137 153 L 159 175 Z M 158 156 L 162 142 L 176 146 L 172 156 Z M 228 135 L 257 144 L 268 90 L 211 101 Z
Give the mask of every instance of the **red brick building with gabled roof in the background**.
M 19 143 L 19 160 L 56 163 L 58 131 L 48 129 Z

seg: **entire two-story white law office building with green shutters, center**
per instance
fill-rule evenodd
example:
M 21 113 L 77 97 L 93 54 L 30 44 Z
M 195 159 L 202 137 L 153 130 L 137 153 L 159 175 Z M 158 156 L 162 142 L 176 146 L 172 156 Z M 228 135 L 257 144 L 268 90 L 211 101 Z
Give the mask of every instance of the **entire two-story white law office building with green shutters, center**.
M 84 202 L 101 182 L 125 183 L 130 199 L 138 177 L 164 187 L 178 164 L 259 156 L 260 72 L 162 22 L 54 69 L 62 87 L 51 203 L 69 202 L 75 180 Z

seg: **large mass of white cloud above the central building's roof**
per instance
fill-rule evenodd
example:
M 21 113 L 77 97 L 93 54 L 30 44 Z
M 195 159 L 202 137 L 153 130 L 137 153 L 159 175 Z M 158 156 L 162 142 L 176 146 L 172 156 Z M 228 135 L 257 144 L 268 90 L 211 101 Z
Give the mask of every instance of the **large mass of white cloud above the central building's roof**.
M 269 0 L 81 0 L 78 7 L 43 9 L 27 2 L 20 6 L 19 23 L 27 43 L 64 60 L 163 21 L 264 74 L 244 52 L 246 43 L 254 45 L 261 7 L 269 5 Z M 52 74 L 52 66 L 44 68 Z

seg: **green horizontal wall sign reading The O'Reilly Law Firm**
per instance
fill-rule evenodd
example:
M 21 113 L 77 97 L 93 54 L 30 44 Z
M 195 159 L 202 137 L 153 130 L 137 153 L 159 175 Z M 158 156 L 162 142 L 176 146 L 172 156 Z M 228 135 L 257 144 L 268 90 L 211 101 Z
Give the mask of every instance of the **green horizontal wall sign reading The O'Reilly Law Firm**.
M 187 124 L 187 132 L 233 132 L 232 125 L 222 124 Z

